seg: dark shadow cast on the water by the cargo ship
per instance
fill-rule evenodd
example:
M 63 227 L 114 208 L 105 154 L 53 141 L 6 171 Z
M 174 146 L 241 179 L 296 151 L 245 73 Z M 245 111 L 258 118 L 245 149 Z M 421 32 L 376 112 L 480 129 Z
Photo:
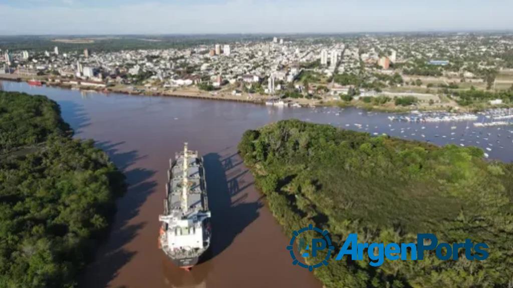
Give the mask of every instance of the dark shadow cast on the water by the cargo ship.
M 246 188 L 252 183 L 245 183 L 242 178 L 247 168 L 237 168 L 232 159 L 237 154 L 222 159 L 217 153 L 203 157 L 206 171 L 208 203 L 212 212 L 212 239 L 210 253 L 203 261 L 221 254 L 251 222 L 259 216 L 263 203 L 247 202 Z M 227 175 L 228 174 L 228 175 Z M 230 176 L 231 175 L 231 176 Z M 233 199 L 235 198 L 235 199 Z

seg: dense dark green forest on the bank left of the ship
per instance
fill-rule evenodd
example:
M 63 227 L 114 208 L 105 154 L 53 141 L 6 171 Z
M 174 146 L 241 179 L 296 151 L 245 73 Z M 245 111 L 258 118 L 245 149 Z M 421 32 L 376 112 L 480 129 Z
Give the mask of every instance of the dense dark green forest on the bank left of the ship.
M 125 177 L 58 105 L 0 92 L 0 287 L 74 287 Z

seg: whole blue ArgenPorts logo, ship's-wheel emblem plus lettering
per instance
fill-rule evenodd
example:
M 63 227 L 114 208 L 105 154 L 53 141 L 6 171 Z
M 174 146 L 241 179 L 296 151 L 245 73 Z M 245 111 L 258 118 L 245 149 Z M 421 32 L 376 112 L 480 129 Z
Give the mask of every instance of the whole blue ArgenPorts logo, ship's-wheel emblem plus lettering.
M 315 233 L 315 237 L 309 235 L 311 243 L 307 243 L 305 237 L 302 237 L 306 233 Z M 301 262 L 298 257 L 294 254 L 293 245 L 296 240 L 299 240 L 298 255 L 307 259 L 309 257 L 317 257 L 320 251 L 327 250 L 326 257 L 314 265 L 309 265 Z M 438 259 L 446 260 L 458 260 L 460 255 L 465 256 L 467 260 L 478 260 L 482 261 L 488 258 L 488 245 L 486 243 L 474 244 L 470 239 L 465 239 L 463 243 L 443 243 L 438 241 L 437 236 L 434 234 L 417 234 L 417 244 L 415 243 L 358 243 L 358 234 L 349 234 L 342 244 L 340 252 L 338 253 L 335 260 L 340 261 L 345 255 L 351 257 L 351 260 L 364 260 L 364 253 L 367 253 L 369 265 L 373 267 L 381 266 L 385 259 L 387 260 L 424 260 L 424 253 L 426 251 L 435 251 L 435 255 Z M 331 239 L 328 236 L 328 231 L 317 227 L 313 227 L 311 224 L 299 231 L 292 232 L 292 238 L 290 239 L 287 250 L 292 258 L 292 264 L 299 265 L 303 268 L 307 268 L 312 271 L 314 268 L 319 268 L 323 265 L 328 265 L 328 261 L 331 257 L 334 247 L 331 244 Z M 302 253 L 302 251 L 305 251 Z M 464 252 L 464 253 L 463 253 Z

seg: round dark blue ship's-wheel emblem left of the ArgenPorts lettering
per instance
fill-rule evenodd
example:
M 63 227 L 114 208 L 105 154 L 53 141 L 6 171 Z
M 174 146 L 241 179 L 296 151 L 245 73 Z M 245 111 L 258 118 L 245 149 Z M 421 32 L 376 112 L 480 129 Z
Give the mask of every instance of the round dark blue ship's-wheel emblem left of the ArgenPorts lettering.
M 306 242 L 306 238 L 302 237 L 306 233 L 315 233 L 321 238 L 312 238 L 311 245 Z M 303 235 L 302 235 L 303 234 Z M 308 265 L 306 263 L 301 262 L 294 254 L 294 242 L 299 240 L 298 245 L 298 254 L 301 254 L 303 258 L 308 257 L 317 257 L 317 252 L 328 249 L 326 257 L 321 262 L 318 262 L 314 265 Z M 302 250 L 306 252 L 301 253 Z M 309 271 L 312 271 L 314 268 L 319 268 L 322 265 L 328 265 L 328 260 L 331 257 L 331 252 L 334 250 L 333 245 L 331 245 L 331 239 L 329 238 L 328 231 L 317 227 L 313 227 L 312 224 L 308 225 L 308 227 L 302 228 L 299 231 L 292 232 L 292 238 L 290 239 L 289 245 L 287 246 L 287 250 L 290 253 L 290 257 L 292 258 L 293 265 L 299 265 L 303 268 L 307 268 Z

